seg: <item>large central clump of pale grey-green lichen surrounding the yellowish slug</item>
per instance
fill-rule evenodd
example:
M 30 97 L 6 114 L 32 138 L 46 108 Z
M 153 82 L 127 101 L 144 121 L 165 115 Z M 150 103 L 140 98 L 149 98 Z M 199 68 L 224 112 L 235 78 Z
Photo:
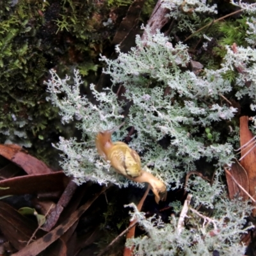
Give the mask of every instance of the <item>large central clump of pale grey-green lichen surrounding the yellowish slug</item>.
M 102 57 L 108 63 L 104 72 L 111 74 L 114 85 L 122 82 L 126 88 L 124 96 L 132 102 L 125 122 L 127 126 L 134 126 L 137 136 L 129 146 L 143 154 L 142 163 L 153 166 L 151 172 L 167 186 L 175 182 L 174 188 L 180 186 L 184 173 L 195 170 L 195 161 L 202 157 L 209 161 L 216 159 L 216 166 L 221 170 L 221 166 L 230 163 L 234 156 L 232 145 L 218 143 L 219 132 L 213 133 L 213 142 L 209 143 L 205 134 L 198 131 L 212 122 L 221 123 L 234 117 L 235 108 L 218 103 L 220 93 L 232 90 L 230 83 L 214 70 L 205 70 L 201 77 L 190 71 L 182 72 L 181 67 L 189 61 L 186 45 L 173 47 L 159 32 L 150 35 L 148 31 L 147 41 L 141 41 L 138 36 L 136 44 L 137 48 L 131 49 L 129 54 L 119 52 L 116 60 Z M 91 84 L 92 93 L 99 102 L 93 105 L 79 95 L 82 81 L 77 70 L 74 72 L 74 86 L 67 83 L 70 77 L 60 79 L 53 70 L 51 74 L 48 90 L 53 104 L 60 108 L 63 122 L 79 116 L 78 127 L 87 138 L 83 143 L 61 139 L 58 148 L 68 156 L 63 161 L 65 172 L 74 175 L 78 183 L 90 179 L 100 184 L 114 182 L 127 186 L 127 180 L 109 172 L 109 164 L 99 159 L 93 143 L 97 132 L 122 122 L 125 102 L 118 101 L 110 88 L 97 92 Z M 168 87 L 170 93 L 164 96 Z M 59 93 L 65 93 L 66 97 L 58 99 Z M 216 102 L 211 108 L 202 100 L 209 98 Z M 124 130 L 117 132 L 114 141 L 124 138 Z M 172 140 L 167 148 L 163 148 L 159 141 L 166 136 Z M 77 156 L 83 161 L 77 160 Z

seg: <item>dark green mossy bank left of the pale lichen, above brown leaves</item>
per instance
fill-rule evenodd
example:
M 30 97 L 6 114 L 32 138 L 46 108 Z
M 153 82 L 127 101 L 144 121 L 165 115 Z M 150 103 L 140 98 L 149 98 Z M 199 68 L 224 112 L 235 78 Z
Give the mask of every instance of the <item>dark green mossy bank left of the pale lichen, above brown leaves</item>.
M 45 100 L 43 81 L 57 64 L 60 72 L 79 67 L 95 77 L 97 54 L 110 36 L 100 7 L 94 1 L 0 1 L 0 143 L 33 145 L 47 157 L 45 148 L 67 134 Z

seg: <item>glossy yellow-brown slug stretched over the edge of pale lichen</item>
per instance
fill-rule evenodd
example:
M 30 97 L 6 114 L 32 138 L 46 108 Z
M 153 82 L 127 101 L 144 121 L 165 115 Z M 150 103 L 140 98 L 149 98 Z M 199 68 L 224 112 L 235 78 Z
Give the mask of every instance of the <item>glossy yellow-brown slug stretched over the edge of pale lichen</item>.
M 156 196 L 157 204 L 159 200 L 166 200 L 167 191 L 165 184 L 151 173 L 141 169 L 138 153 L 124 142 L 113 142 L 111 140 L 112 133 L 122 127 L 122 125 L 124 123 L 111 130 L 102 131 L 97 134 L 95 144 L 100 156 L 106 161 L 110 161 L 111 166 L 115 168 L 116 172 L 124 175 L 127 179 L 141 183 L 148 182 Z

